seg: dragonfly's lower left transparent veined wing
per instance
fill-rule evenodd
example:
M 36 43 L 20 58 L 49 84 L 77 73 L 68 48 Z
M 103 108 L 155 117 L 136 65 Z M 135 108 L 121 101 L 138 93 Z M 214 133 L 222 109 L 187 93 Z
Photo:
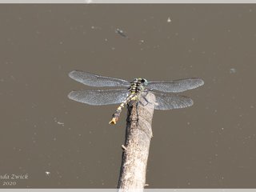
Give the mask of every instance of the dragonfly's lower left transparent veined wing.
M 68 98 L 92 106 L 102 106 L 124 102 L 128 94 L 129 91 L 127 89 L 73 90 L 68 95 Z

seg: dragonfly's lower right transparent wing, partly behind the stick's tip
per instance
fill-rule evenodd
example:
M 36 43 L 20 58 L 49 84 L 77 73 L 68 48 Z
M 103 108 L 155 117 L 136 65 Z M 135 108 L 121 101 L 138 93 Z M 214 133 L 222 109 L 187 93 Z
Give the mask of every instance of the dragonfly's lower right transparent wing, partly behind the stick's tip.
M 155 110 L 173 110 L 193 105 L 193 100 L 178 94 L 162 94 L 152 91 L 155 96 Z

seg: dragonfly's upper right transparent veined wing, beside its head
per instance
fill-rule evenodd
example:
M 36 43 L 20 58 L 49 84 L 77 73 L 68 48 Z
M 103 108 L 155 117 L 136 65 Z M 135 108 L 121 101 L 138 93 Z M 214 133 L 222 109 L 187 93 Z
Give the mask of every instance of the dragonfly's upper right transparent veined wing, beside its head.
M 193 90 L 204 84 L 201 78 L 186 78 L 174 81 L 152 81 L 148 82 L 148 88 L 163 92 L 178 93 L 185 90 Z

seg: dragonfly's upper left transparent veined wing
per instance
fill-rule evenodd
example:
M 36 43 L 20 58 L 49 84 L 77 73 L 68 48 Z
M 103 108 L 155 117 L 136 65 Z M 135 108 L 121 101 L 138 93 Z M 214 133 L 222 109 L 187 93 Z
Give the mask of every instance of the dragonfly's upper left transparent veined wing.
M 104 77 L 79 70 L 71 71 L 69 76 L 86 86 L 130 86 L 130 82 L 120 78 Z

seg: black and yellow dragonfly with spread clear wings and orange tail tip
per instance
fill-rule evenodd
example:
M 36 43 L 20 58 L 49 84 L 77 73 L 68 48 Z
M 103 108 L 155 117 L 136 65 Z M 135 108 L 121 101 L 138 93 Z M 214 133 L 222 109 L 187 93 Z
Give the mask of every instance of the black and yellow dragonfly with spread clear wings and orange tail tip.
M 138 102 L 150 92 L 155 96 L 155 110 L 173 110 L 193 105 L 193 100 L 177 93 L 193 90 L 204 84 L 201 78 L 185 78 L 170 81 L 147 81 L 146 78 L 134 78 L 128 82 L 121 78 L 110 78 L 89 72 L 73 70 L 70 78 L 86 86 L 102 87 L 93 90 L 73 90 L 68 98 L 76 102 L 86 103 L 91 106 L 119 104 L 115 110 L 110 124 L 116 124 L 122 108 L 130 102 Z M 112 87 L 112 88 L 108 88 Z M 144 95 L 144 96 L 143 96 Z

